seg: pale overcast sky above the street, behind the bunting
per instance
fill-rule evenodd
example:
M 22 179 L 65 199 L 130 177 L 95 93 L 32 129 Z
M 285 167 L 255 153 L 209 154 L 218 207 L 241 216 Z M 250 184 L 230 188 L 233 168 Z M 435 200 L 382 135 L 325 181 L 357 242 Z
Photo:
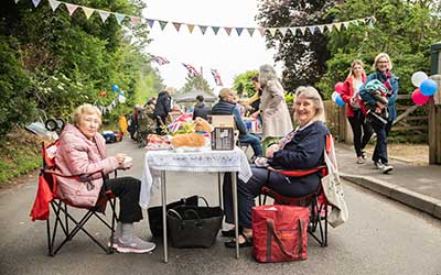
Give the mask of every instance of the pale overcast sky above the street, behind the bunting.
M 171 22 L 215 26 L 256 28 L 256 0 L 144 0 L 147 9 L 143 16 Z M 205 35 L 196 26 L 190 34 L 186 25 L 178 33 L 172 23 L 161 31 L 158 22 L 150 32 L 153 42 L 147 52 L 168 58 L 170 64 L 155 65 L 164 85 L 181 88 L 185 84 L 186 69 L 181 63 L 193 65 L 197 70 L 203 67 L 204 78 L 215 92 L 219 87 L 209 72 L 217 69 L 225 87 L 233 85 L 234 77 L 262 64 L 273 65 L 273 51 L 266 50 L 265 40 L 259 33 L 252 37 L 244 30 L 237 36 L 235 30 L 228 36 L 223 29 L 217 35 L 211 28 Z

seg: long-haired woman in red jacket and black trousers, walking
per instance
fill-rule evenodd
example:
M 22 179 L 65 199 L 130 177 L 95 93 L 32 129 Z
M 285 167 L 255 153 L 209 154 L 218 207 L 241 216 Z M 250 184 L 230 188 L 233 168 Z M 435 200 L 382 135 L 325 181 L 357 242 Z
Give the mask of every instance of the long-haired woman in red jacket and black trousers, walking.
M 370 124 L 366 122 L 362 112 L 359 87 L 366 80 L 366 74 L 362 61 L 355 59 L 351 65 L 351 72 L 343 85 L 341 92 L 343 101 L 346 102 L 346 118 L 349 121 L 354 135 L 354 148 L 357 164 L 363 164 L 366 158 L 364 148 L 373 134 Z

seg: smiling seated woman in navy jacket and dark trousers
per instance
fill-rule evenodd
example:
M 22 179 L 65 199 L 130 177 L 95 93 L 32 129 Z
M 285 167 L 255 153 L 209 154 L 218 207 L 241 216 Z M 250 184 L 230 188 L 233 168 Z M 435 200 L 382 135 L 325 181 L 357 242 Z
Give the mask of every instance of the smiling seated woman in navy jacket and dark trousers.
M 257 158 L 251 167 L 252 176 L 247 182 L 237 180 L 238 219 L 240 227 L 239 246 L 252 245 L 251 208 L 262 186 L 268 186 L 280 195 L 302 197 L 314 193 L 322 178 L 320 170 L 303 177 L 288 177 L 270 173 L 267 166 L 278 169 L 311 169 L 324 164 L 324 148 L 329 129 L 324 124 L 323 101 L 313 87 L 299 87 L 295 92 L 294 120 L 299 127 L 289 132 L 278 144 L 268 147 L 268 158 Z M 258 167 L 259 166 L 259 167 Z M 233 223 L 233 196 L 230 175 L 224 177 L 224 202 L 226 222 Z M 232 237 L 234 231 L 223 231 Z M 235 248 L 235 241 L 226 242 Z

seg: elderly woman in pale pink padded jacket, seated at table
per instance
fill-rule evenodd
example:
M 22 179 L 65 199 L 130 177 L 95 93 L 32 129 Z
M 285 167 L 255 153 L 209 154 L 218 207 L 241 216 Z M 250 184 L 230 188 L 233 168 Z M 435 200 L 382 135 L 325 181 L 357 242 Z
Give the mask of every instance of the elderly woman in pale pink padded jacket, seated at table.
M 86 180 L 58 177 L 58 196 L 78 207 L 93 207 L 106 190 L 101 173 L 107 175 L 118 168 L 127 168 L 126 155 L 107 156 L 105 139 L 98 133 L 101 112 L 97 107 L 83 105 L 73 116 L 73 124 L 67 124 L 60 136 L 55 163 L 60 174 L 65 176 L 89 176 Z M 143 241 L 133 234 L 133 222 L 142 219 L 138 205 L 140 180 L 133 177 L 118 177 L 106 182 L 120 201 L 119 221 L 114 237 L 114 248 L 123 253 L 146 253 L 154 243 Z

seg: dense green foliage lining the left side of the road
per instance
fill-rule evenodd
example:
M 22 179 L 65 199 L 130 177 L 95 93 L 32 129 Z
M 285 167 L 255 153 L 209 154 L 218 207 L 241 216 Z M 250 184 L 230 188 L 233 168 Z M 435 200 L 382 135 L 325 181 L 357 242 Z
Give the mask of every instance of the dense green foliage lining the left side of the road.
M 141 15 L 146 7 L 140 0 L 71 2 L 133 15 Z M 71 16 L 63 3 L 53 12 L 46 1 L 37 8 L 32 1 L 2 2 L 0 134 L 39 116 L 67 119 L 84 102 L 108 106 L 118 97 L 112 84 L 125 91 L 127 101 L 105 121 L 143 103 L 139 101 L 146 100 L 146 90 L 161 86 L 141 51 L 148 43 L 144 23 L 120 26 L 115 16 L 103 23 L 97 12 L 87 20 L 80 8 Z M 98 97 L 103 90 L 106 98 Z

